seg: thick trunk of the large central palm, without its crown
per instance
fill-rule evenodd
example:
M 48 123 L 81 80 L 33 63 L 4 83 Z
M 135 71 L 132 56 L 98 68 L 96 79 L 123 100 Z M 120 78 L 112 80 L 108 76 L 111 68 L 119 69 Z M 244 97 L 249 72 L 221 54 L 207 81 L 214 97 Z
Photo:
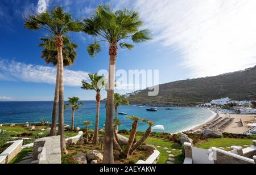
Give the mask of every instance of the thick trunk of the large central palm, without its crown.
M 109 46 L 109 86 L 108 100 L 106 106 L 106 122 L 105 122 L 105 137 L 104 137 L 104 164 L 114 164 L 113 152 L 113 116 L 114 116 L 114 88 L 115 88 L 115 60 L 117 58 L 117 44 Z

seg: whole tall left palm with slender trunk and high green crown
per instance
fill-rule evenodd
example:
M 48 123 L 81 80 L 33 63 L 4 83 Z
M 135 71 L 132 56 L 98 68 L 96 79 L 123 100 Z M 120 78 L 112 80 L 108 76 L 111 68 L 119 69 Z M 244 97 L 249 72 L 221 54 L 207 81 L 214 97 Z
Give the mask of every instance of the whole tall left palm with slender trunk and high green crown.
M 65 13 L 63 8 L 55 7 L 51 12 L 42 14 L 29 14 L 25 20 L 25 28 L 31 30 L 44 29 L 48 35 L 55 39 L 52 48 L 56 48 L 59 63 L 59 134 L 61 153 L 66 153 L 64 133 L 64 84 L 63 84 L 63 36 L 70 31 L 80 31 L 80 23 L 72 19 L 71 14 Z

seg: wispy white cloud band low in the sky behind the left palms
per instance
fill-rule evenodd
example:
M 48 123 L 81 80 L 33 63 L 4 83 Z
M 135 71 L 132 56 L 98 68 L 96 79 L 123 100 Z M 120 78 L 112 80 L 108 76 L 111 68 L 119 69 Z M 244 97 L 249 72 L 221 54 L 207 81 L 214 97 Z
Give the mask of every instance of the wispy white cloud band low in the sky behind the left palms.
M 80 87 L 83 79 L 87 72 L 64 69 L 65 86 Z M 55 84 L 56 68 L 0 59 L 0 80 Z

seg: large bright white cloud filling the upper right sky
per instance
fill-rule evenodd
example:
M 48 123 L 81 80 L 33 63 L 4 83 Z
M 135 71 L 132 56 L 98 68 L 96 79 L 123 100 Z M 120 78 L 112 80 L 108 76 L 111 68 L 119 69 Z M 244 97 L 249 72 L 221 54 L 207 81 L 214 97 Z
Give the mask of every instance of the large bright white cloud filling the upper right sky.
M 191 76 L 209 76 L 256 64 L 255 0 L 112 0 L 135 8 L 154 41 L 176 49 Z M 171 60 L 170 60 L 171 62 Z

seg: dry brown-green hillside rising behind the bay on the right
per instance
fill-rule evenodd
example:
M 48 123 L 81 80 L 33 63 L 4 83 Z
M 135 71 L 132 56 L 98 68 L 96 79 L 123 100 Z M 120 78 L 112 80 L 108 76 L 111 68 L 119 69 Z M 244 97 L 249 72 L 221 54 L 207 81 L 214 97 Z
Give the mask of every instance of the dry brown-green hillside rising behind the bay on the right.
M 171 106 L 196 105 L 221 97 L 256 100 L 256 66 L 218 76 L 160 84 L 158 96 L 148 96 L 146 89 L 127 98 L 131 104 Z

